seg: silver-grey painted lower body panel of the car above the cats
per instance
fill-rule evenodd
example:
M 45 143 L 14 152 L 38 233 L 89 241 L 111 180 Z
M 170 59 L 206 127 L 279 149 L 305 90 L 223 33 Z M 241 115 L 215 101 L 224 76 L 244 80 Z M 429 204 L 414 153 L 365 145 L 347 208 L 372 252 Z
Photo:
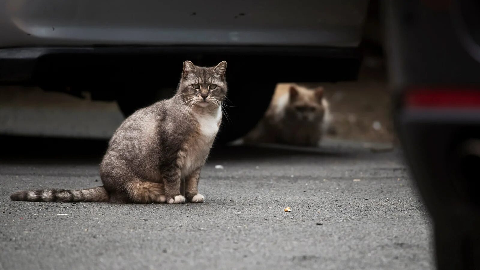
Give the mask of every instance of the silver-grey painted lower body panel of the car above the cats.
M 3 0 L 0 48 L 356 47 L 368 0 Z

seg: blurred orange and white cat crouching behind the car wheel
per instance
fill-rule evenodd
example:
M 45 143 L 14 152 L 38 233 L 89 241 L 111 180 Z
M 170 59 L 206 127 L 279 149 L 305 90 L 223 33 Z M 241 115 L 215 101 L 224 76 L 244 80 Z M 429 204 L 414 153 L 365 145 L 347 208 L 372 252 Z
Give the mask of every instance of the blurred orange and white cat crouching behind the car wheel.
M 278 84 L 264 118 L 244 142 L 318 146 L 330 122 L 323 87 Z

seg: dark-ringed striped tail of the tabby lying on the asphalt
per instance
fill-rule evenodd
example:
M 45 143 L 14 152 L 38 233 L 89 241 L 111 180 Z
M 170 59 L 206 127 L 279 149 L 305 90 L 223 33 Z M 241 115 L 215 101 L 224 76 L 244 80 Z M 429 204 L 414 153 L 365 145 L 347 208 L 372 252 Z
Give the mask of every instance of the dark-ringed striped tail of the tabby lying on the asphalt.
M 10 199 L 29 202 L 107 202 L 108 193 L 103 186 L 77 190 L 24 190 L 12 193 Z

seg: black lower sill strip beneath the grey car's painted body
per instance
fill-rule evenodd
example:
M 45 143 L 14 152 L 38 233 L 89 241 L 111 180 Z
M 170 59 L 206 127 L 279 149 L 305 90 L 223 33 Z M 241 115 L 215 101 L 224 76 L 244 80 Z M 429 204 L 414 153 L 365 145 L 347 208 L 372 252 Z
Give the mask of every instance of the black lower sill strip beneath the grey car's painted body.
M 357 48 L 264 46 L 0 49 L 0 84 L 72 86 L 142 80 L 175 85 L 185 60 L 204 66 L 226 60 L 229 76 L 254 73 L 278 82 L 320 82 L 355 79 L 360 52 Z

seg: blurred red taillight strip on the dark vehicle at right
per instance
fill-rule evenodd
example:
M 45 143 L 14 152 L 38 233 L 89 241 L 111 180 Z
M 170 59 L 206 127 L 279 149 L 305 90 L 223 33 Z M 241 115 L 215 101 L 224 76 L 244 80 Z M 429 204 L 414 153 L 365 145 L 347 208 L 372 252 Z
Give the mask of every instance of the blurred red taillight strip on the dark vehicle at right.
M 480 89 L 411 88 L 405 95 L 408 108 L 479 109 Z

